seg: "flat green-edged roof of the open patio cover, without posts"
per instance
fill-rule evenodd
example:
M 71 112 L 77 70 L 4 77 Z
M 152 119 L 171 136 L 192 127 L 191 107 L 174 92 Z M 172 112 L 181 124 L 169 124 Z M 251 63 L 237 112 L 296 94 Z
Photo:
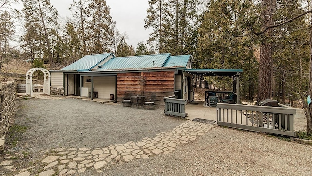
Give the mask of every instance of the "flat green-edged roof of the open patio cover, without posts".
M 204 76 L 234 76 L 243 72 L 242 69 L 185 69 L 187 73 Z

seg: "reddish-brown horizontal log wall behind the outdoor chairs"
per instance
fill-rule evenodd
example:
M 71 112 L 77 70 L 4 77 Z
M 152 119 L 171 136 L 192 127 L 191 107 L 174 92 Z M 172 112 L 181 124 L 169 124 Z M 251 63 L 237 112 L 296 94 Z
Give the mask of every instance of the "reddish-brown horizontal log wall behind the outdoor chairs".
M 156 105 L 164 105 L 163 98 L 174 95 L 175 72 L 137 72 L 117 74 L 117 102 L 123 100 L 124 94 L 145 95 L 145 100 L 156 94 Z

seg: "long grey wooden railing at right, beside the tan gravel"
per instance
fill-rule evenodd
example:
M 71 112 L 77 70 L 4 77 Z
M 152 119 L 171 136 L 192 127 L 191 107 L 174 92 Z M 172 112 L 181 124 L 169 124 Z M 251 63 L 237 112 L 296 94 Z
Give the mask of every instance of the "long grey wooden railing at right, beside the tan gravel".
M 296 137 L 293 130 L 296 110 L 278 105 L 280 107 L 218 103 L 217 125 Z

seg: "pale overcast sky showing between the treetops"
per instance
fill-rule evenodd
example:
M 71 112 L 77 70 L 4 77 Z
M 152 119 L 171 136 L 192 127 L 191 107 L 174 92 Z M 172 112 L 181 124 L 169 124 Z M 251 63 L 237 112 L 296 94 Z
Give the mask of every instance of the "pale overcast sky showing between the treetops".
M 71 17 L 68 7 L 73 0 L 50 0 L 50 2 L 58 10 L 59 16 Z M 106 4 L 111 8 L 110 14 L 113 21 L 116 21 L 116 28 L 120 34 L 127 34 L 126 42 L 129 46 L 132 45 L 135 49 L 138 42 L 146 43 L 152 32 L 151 29 L 144 28 L 148 0 L 106 0 Z M 22 4 L 19 6 L 21 9 Z

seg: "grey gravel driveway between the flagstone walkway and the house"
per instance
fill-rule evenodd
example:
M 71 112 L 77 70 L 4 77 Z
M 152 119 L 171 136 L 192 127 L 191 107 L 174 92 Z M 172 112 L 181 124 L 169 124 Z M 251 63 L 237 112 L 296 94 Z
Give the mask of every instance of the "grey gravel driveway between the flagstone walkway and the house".
M 15 124 L 28 127 L 21 146 L 38 153 L 58 147 L 105 147 L 140 141 L 170 131 L 184 119 L 144 110 L 78 99 L 19 100 Z

